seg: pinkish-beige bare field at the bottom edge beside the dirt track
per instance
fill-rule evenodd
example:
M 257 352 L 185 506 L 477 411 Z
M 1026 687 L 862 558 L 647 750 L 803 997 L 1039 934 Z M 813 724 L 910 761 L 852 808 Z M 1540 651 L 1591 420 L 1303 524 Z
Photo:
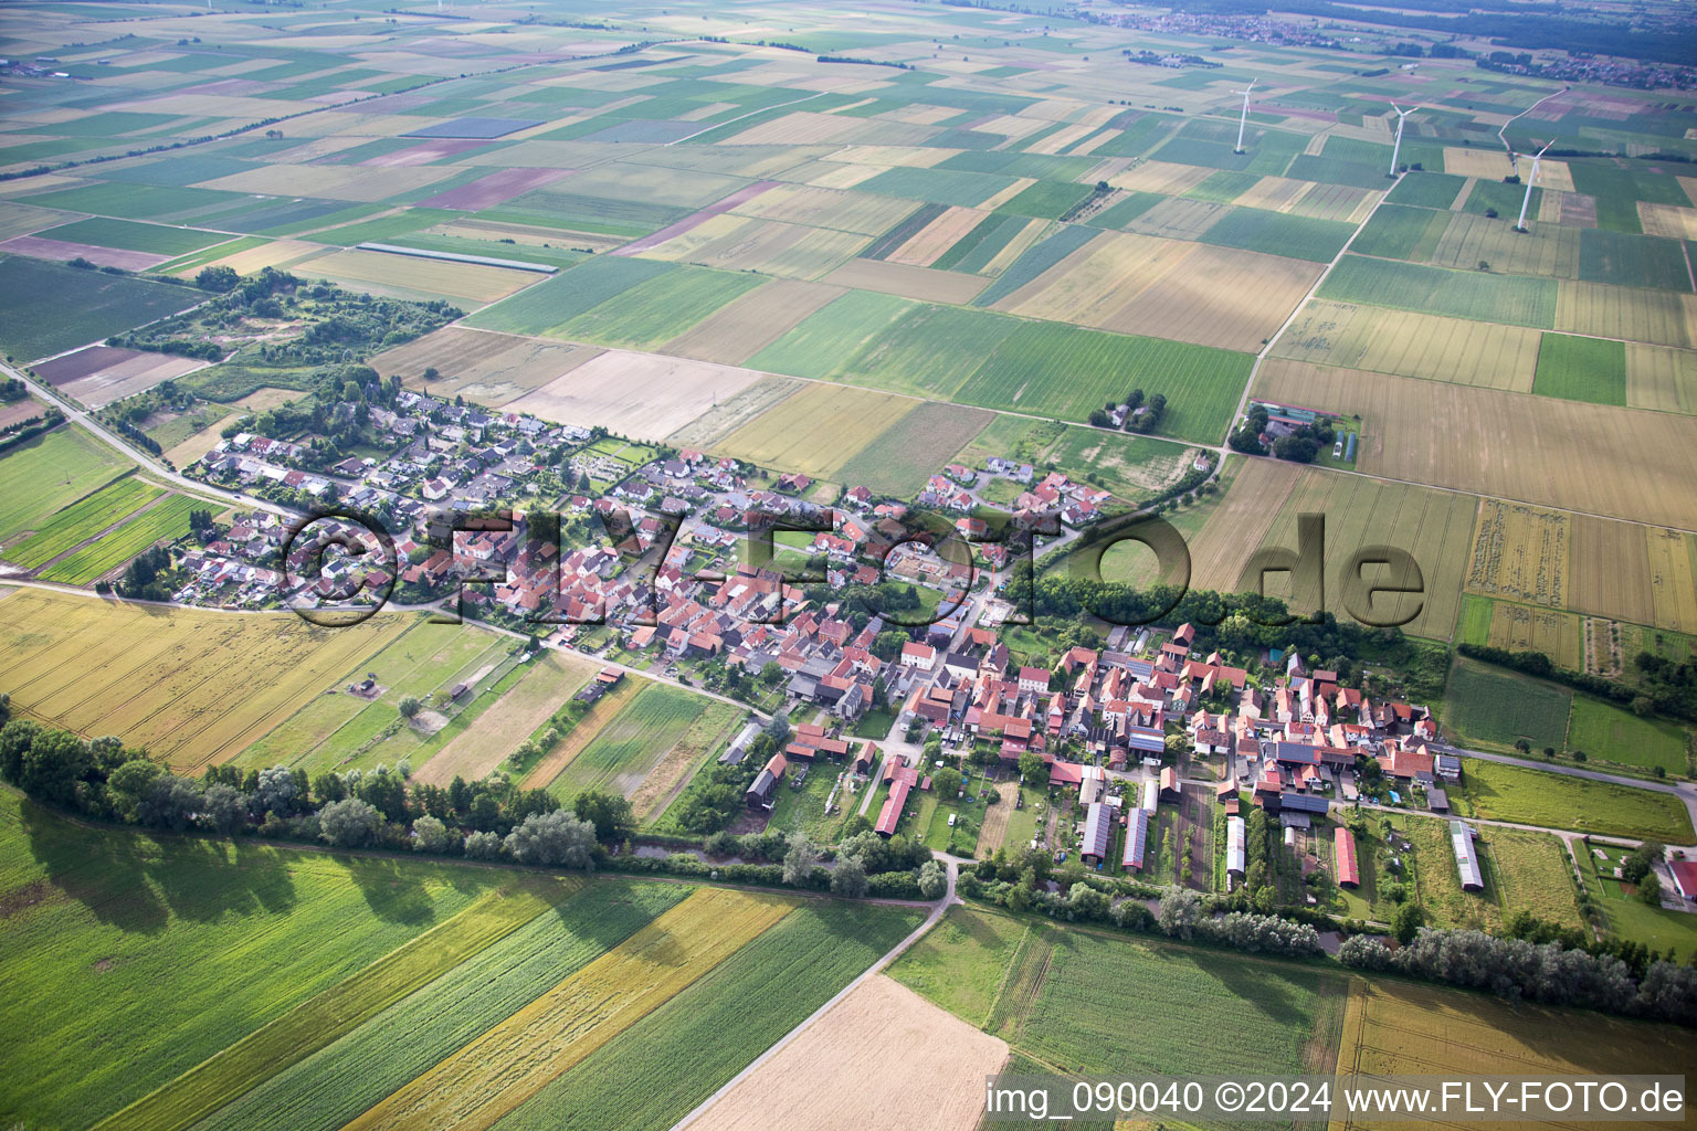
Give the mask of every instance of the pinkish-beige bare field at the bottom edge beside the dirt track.
M 1008 1046 L 876 973 L 708 1107 L 697 1131 L 972 1131 Z

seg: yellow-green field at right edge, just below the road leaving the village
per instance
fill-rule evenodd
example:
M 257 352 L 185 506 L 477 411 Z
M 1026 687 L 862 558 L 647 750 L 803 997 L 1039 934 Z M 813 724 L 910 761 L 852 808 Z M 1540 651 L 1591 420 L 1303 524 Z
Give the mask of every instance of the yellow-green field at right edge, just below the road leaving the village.
M 1673 794 L 1593 782 L 1505 761 L 1463 758 L 1461 788 L 1451 790 L 1458 816 L 1573 829 L 1600 836 L 1655 838 L 1690 844 L 1690 812 Z M 1458 804 L 1459 802 L 1459 804 Z

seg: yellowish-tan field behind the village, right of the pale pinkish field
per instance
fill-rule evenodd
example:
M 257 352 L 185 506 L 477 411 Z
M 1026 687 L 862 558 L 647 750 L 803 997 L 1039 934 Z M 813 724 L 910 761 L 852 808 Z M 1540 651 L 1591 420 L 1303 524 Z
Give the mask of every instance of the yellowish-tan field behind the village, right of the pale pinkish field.
M 918 404 L 913 397 L 816 382 L 777 402 L 714 449 L 765 468 L 832 478 Z

